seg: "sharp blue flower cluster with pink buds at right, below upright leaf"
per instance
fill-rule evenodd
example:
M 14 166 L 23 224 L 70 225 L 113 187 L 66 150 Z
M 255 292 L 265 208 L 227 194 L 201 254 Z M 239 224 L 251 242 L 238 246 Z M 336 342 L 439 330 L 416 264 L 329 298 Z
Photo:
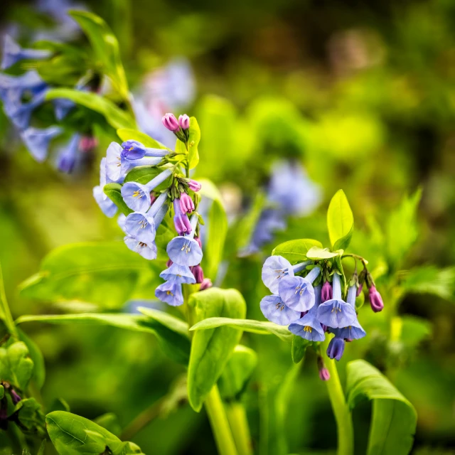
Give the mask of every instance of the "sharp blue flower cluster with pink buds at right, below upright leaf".
M 272 295 L 265 296 L 260 306 L 269 321 L 289 326 L 291 333 L 308 341 L 324 341 L 326 332 L 333 333 L 327 355 L 340 360 L 346 341 L 366 335 L 355 309 L 355 297 L 365 282 L 373 311 L 381 311 L 384 305 L 366 268 L 360 277 L 353 274 L 346 299 L 343 299 L 340 272 L 333 270 L 329 274 L 322 267 L 318 261 L 307 260 L 292 265 L 282 256 L 267 258 L 262 267 L 262 281 Z M 318 361 L 320 376 L 324 379 L 328 371 L 324 370 L 322 358 Z

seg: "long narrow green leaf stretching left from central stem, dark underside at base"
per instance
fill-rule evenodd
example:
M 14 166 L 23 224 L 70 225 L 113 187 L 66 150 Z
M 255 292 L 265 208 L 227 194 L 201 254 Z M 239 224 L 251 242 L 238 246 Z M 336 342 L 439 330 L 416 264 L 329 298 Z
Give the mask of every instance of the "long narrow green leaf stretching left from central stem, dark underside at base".
M 46 316 L 21 316 L 16 323 L 24 322 L 45 322 L 54 324 L 95 324 L 123 328 L 130 331 L 153 333 L 159 341 L 164 352 L 178 363 L 188 363 L 190 353 L 190 341 L 188 332 L 183 331 L 182 323 L 175 319 L 171 324 L 173 316 L 138 316 L 135 314 L 59 314 Z M 165 321 L 161 322 L 161 321 Z

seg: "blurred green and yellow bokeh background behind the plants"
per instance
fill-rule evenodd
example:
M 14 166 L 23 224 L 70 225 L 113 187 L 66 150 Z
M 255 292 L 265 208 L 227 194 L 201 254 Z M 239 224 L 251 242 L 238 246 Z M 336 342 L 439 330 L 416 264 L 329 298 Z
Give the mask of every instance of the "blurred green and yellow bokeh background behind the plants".
M 287 227 L 259 251 L 247 254 L 248 245 L 240 245 L 243 254 L 230 254 L 222 283 L 241 289 L 249 317 L 262 319 L 260 267 L 274 246 L 300 237 L 328 244 L 325 210 L 338 188 L 355 216 L 351 250 L 378 267 L 377 243 L 385 240 L 373 238 L 372 223 L 384 227 L 402 199 L 422 188 L 419 234 L 402 268 L 454 264 L 454 1 L 14 0 L 1 3 L 2 35 L 24 44 L 57 36 L 86 45 L 64 16 L 69 6 L 109 23 L 130 87 L 145 102 L 154 98 L 147 81 L 156 70 L 176 58 L 191 66 L 194 90 L 175 113 L 197 117 L 202 131 L 197 176 L 218 185 L 233 223 L 260 204 L 279 161 L 304 167 L 311 189 L 299 191 L 312 195 L 308 210 L 288 217 Z M 65 176 L 52 161 L 34 161 L 0 114 L 0 261 L 15 317 L 70 308 L 19 295 L 18 285 L 38 271 L 48 252 L 74 242 L 121 240 L 115 220 L 102 215 L 92 198 L 103 154 L 100 147 Z M 239 246 L 235 232 L 228 237 L 231 250 Z M 446 271 L 453 281 L 454 269 Z M 402 299 L 397 314 L 418 320 L 424 333 L 412 346 L 395 343 L 392 362 L 391 340 L 375 331 L 387 315 L 374 319 L 365 309 L 369 339 L 349 346 L 339 363 L 342 380 L 346 362 L 359 357 L 390 373 L 418 412 L 416 454 L 455 453 L 455 306 L 449 289 L 445 298 L 411 292 Z M 150 289 L 149 298 L 153 295 Z M 114 412 L 127 425 L 184 373 L 151 336 L 38 324 L 26 331 L 45 356 L 43 400 L 63 397 L 84 417 Z M 251 334 L 243 342 L 259 353 L 243 399 L 252 437 L 258 453 L 273 455 L 264 437 L 264 409 L 291 368 L 289 347 Z M 365 451 L 369 415 L 368 404 L 354 411 L 358 454 Z M 289 453 L 330 454 L 336 448 L 326 387 L 311 353 L 282 432 Z M 146 454 L 215 453 L 204 412 L 196 414 L 188 405 L 154 419 L 133 440 Z

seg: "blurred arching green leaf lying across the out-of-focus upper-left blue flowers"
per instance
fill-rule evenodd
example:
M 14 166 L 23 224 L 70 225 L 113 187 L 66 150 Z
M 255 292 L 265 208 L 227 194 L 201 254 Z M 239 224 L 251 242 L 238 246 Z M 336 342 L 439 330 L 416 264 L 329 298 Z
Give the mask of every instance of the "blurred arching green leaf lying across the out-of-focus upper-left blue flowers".
M 45 95 L 46 100 L 55 100 L 65 98 L 85 106 L 92 111 L 102 114 L 107 123 L 113 128 L 134 128 L 134 119 L 127 112 L 122 111 L 119 107 L 107 98 L 97 95 L 93 92 L 81 92 L 71 88 L 51 88 Z

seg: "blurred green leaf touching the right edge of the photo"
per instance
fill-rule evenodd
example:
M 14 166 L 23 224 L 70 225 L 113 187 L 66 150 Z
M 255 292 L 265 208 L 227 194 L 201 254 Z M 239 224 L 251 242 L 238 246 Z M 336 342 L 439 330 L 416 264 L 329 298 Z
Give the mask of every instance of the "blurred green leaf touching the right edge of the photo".
M 455 292 L 455 267 L 438 269 L 432 265 L 417 267 L 405 275 L 402 287 L 414 294 L 433 294 L 441 299 L 453 300 Z

